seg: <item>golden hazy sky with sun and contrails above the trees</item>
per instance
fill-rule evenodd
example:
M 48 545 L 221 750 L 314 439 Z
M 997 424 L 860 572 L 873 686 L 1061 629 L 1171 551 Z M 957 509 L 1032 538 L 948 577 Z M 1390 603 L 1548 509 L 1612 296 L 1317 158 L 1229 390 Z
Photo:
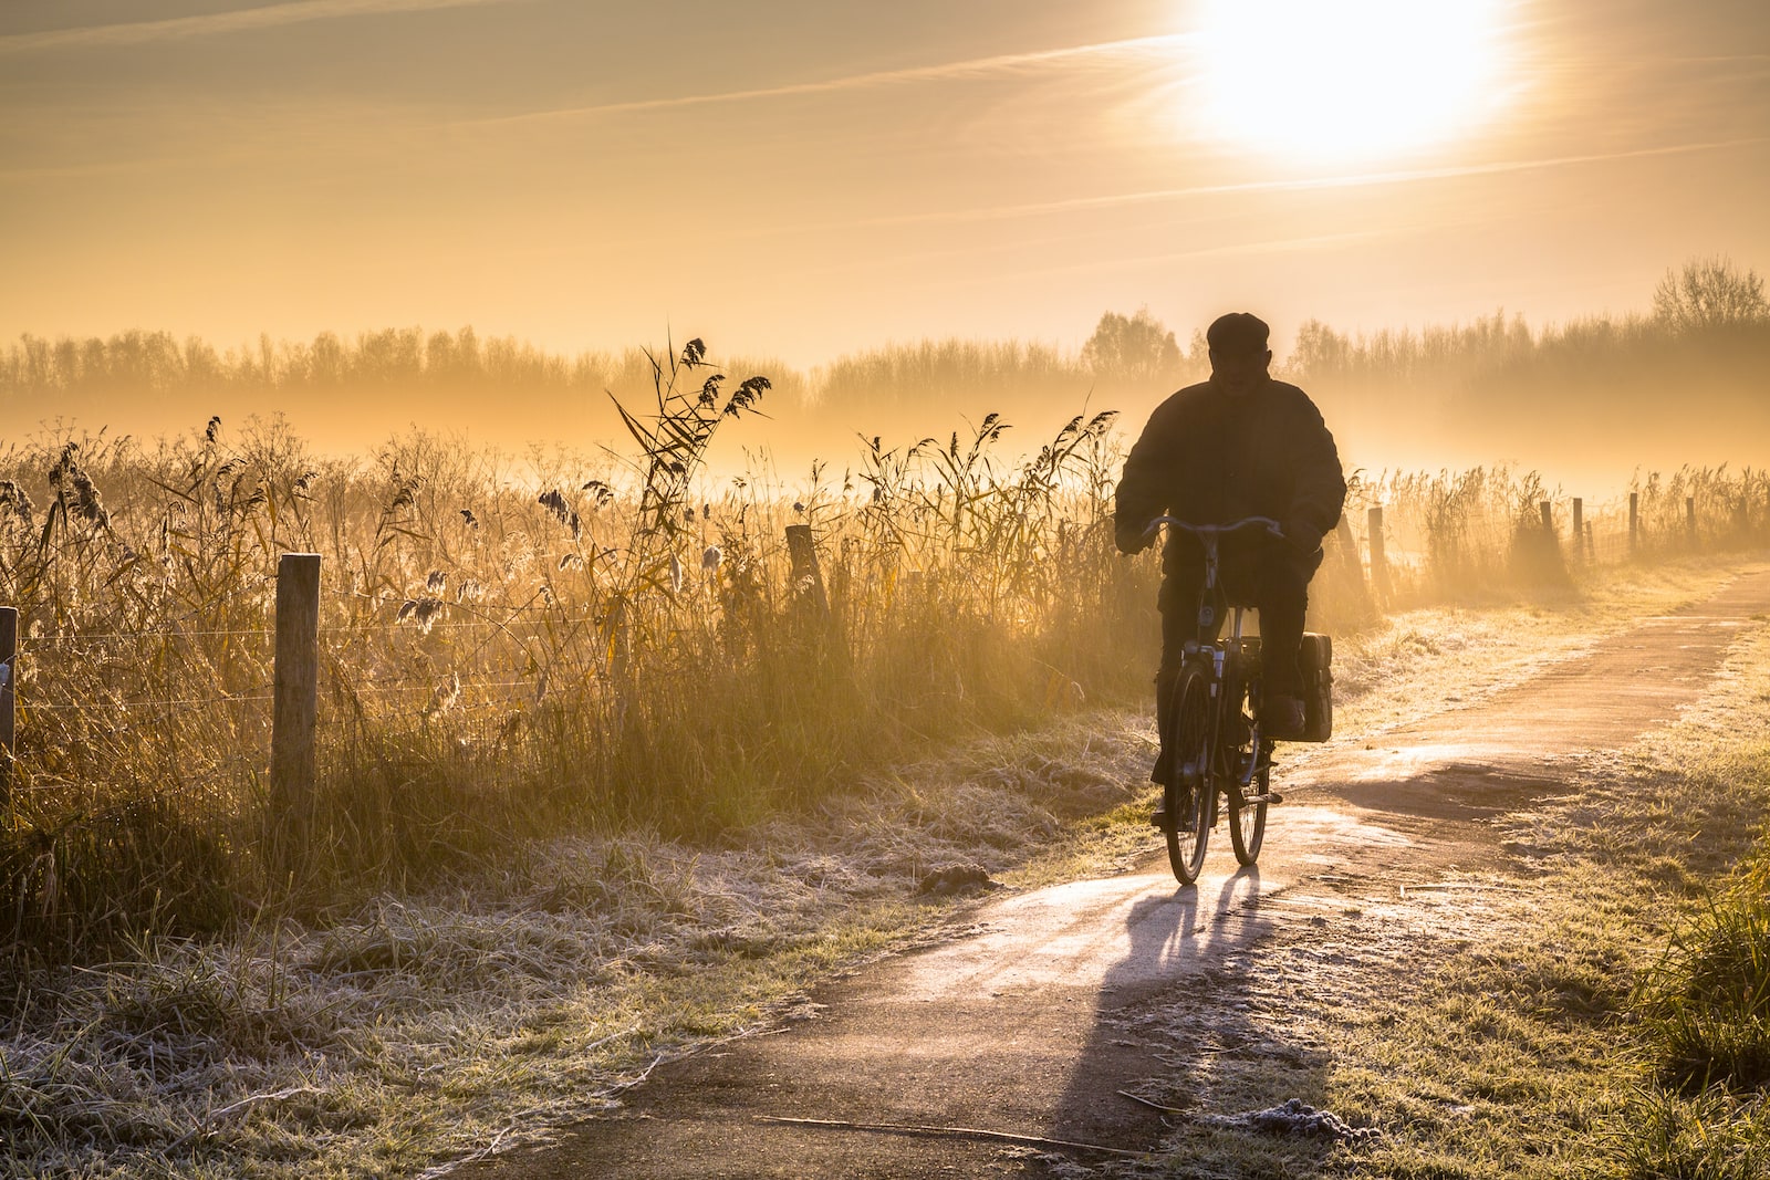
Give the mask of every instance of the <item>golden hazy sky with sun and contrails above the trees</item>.
M 1763 272 L 1766 182 L 1763 0 L 0 5 L 0 338 L 1283 347 Z

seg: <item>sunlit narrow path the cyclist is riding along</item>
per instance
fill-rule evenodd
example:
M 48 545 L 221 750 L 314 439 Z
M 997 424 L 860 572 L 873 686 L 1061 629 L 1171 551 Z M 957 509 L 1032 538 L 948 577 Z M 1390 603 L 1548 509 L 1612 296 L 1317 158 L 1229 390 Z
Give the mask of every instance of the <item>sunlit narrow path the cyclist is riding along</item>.
M 1754 570 L 1685 612 L 1639 619 L 1588 655 L 1469 708 L 1280 768 L 1255 870 L 1212 840 L 1198 888 L 1165 860 L 984 904 L 977 931 L 816 996 L 818 1017 L 660 1069 L 614 1118 L 464 1166 L 473 1180 L 550 1176 L 1050 1175 L 1000 1141 L 807 1129 L 758 1116 L 979 1127 L 1143 1150 L 1161 1123 L 1117 1092 L 1174 1069 L 1138 1038 L 1140 1007 L 1232 978 L 1260 939 L 1343 904 L 1497 854 L 1492 817 L 1559 791 L 1556 762 L 1627 745 L 1715 676 L 1770 610 Z M 1150 833 L 1150 847 L 1156 837 Z M 1089 1159 L 1078 1155 L 1076 1159 Z

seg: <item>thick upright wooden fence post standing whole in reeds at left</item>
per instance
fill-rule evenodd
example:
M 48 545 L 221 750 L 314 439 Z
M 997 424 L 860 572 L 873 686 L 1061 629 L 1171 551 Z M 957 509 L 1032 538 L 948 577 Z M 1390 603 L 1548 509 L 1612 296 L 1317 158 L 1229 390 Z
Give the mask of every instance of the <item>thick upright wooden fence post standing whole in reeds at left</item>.
M 319 713 L 320 556 L 283 554 L 276 566 L 276 672 L 271 701 L 271 828 L 280 869 L 301 854 L 313 814 L 313 727 Z

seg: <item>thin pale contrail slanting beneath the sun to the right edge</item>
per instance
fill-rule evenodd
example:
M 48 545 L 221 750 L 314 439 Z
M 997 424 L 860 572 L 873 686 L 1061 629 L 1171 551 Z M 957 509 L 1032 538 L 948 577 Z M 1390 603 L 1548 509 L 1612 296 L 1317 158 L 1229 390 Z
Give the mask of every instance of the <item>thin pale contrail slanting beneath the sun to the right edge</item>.
M 1120 205 L 1149 205 L 1189 196 L 1223 196 L 1235 193 L 1283 193 L 1306 189 L 1340 189 L 1377 184 L 1412 184 L 1418 180 L 1450 180 L 1457 177 L 1481 177 L 1508 172 L 1536 172 L 1542 168 L 1568 168 L 1572 165 L 1597 165 L 1612 159 L 1646 159 L 1653 156 L 1683 156 L 1690 152 L 1712 152 L 1724 147 L 1751 147 L 1770 143 L 1770 134 L 1749 136 L 1743 140 L 1713 140 L 1706 143 L 1674 143 L 1671 147 L 1639 147 L 1627 152 L 1597 152 L 1591 156 L 1551 156 L 1547 159 L 1503 159 L 1487 165 L 1446 165 L 1444 168 L 1411 168 L 1405 172 L 1363 172 L 1340 177 L 1301 177 L 1292 180 L 1239 180 L 1234 184 L 1197 184 L 1175 189 L 1147 189 L 1142 193 L 1112 193 L 1104 196 L 1073 196 L 1051 202 L 1030 202 L 1021 205 L 993 205 L 989 209 L 961 209 L 954 212 L 901 214 L 892 218 L 871 218 L 860 221 L 864 226 L 876 225 L 924 225 L 943 221 L 993 221 L 997 218 L 1030 218 L 1046 212 L 1073 212 L 1085 209 L 1113 209 Z

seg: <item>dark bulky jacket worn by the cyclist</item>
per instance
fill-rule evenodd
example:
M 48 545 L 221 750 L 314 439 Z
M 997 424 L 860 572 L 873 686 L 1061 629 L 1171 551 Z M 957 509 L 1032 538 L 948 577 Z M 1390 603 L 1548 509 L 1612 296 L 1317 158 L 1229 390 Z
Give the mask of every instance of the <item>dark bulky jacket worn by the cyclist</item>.
M 1149 416 L 1124 462 L 1113 524 L 1119 548 L 1136 552 L 1145 525 L 1163 513 L 1191 524 L 1271 517 L 1294 552 L 1313 554 L 1343 502 L 1340 453 L 1306 393 L 1281 380 L 1243 395 L 1200 382 Z M 1189 540 L 1170 538 L 1168 573 L 1191 552 Z

